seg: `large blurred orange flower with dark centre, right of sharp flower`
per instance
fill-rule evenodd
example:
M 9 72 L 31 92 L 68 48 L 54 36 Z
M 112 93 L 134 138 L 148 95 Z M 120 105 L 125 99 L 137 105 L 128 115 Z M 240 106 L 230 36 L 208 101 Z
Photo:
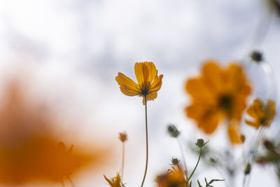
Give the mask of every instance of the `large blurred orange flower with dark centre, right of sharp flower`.
M 251 87 L 238 64 L 222 68 L 214 60 L 207 61 L 202 75 L 187 81 L 186 91 L 193 99 L 193 104 L 186 107 L 186 114 L 197 121 L 200 129 L 211 134 L 220 120 L 226 118 L 230 141 L 241 143 L 239 121 Z

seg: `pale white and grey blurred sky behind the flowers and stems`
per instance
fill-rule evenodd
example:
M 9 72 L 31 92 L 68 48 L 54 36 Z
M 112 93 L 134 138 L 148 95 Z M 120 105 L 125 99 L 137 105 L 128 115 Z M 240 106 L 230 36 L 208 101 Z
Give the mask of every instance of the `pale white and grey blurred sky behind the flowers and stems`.
M 229 146 L 223 125 L 207 137 L 184 113 L 190 104 L 186 80 L 197 76 L 205 60 L 242 62 L 254 87 L 251 99 L 278 99 L 279 30 L 280 18 L 265 0 L 0 1 L 0 97 L 5 102 L 10 81 L 17 80 L 29 104 L 47 108 L 57 122 L 58 141 L 67 141 L 68 148 L 73 141 L 108 151 L 104 165 L 72 179 L 76 186 L 108 186 L 103 174 L 120 170 L 118 132 L 126 131 L 124 181 L 139 186 L 146 159 L 144 106 L 141 98 L 123 95 L 115 77 L 122 72 L 135 81 L 134 63 L 154 62 L 164 77 L 158 98 L 148 102 L 145 186 L 155 186 L 155 176 L 169 168 L 170 159 L 181 157 L 177 142 L 167 135 L 170 123 L 181 131 L 190 168 L 197 155 L 188 149 L 189 142 L 204 137 L 214 148 Z M 251 64 L 251 50 L 262 51 L 272 67 L 269 74 Z M 279 132 L 278 121 L 277 115 L 267 136 Z M 255 135 L 251 127 L 248 133 Z M 232 147 L 237 153 L 240 149 Z M 195 179 L 204 176 L 223 179 L 202 164 Z M 242 172 L 236 185 L 241 182 Z M 251 186 L 276 182 L 272 168 L 254 167 Z

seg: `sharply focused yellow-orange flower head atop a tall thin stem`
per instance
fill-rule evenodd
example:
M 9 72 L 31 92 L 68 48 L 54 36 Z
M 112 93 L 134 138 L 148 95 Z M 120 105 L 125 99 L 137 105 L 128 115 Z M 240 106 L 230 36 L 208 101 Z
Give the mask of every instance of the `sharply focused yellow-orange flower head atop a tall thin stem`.
M 155 64 L 153 62 L 137 62 L 134 71 L 138 84 L 124 74 L 118 73 L 116 81 L 120 85 L 120 91 L 128 96 L 144 97 L 143 104 L 145 104 L 145 97 L 147 101 L 157 98 L 158 90 L 162 86 L 163 75 L 158 76 Z

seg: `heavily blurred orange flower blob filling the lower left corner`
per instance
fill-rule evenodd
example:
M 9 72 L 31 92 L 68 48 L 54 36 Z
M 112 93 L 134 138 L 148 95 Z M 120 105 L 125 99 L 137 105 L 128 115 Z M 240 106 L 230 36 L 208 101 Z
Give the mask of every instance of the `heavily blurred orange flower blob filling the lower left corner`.
M 66 148 L 54 119 L 11 83 L 0 105 L 0 183 L 63 183 L 69 176 L 106 160 L 103 148 Z M 74 141 L 71 139 L 71 141 Z M 85 145 L 83 145 L 84 147 Z

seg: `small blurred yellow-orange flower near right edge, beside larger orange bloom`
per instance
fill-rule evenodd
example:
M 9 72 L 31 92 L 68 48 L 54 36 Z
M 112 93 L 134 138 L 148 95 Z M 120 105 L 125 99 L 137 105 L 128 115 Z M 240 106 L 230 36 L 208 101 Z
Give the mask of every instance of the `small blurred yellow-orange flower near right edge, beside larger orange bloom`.
M 260 126 L 268 127 L 275 116 L 275 102 L 268 99 L 267 104 L 264 104 L 260 99 L 255 99 L 247 109 L 247 113 L 254 119 L 253 121 L 245 120 L 248 125 L 256 129 Z

